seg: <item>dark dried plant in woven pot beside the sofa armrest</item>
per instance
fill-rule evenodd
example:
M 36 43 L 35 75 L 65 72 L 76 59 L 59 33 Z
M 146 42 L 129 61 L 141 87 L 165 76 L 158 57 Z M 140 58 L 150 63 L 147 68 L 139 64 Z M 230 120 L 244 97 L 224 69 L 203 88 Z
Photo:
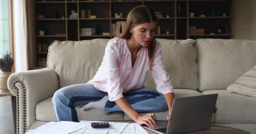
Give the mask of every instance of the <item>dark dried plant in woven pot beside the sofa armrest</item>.
M 10 52 L 3 54 L 0 58 L 0 70 L 2 71 L 0 75 L 0 90 L 2 91 L 9 91 L 7 87 L 7 80 L 12 73 L 13 63 L 14 60 L 11 57 Z

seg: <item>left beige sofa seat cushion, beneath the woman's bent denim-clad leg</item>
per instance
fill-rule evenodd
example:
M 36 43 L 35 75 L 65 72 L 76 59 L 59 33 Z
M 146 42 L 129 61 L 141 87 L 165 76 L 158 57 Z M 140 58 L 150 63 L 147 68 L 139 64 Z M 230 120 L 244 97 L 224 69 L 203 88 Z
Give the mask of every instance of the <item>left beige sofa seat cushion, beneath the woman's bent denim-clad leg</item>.
M 52 97 L 37 103 L 35 109 L 36 120 L 38 121 L 58 121 L 54 112 Z M 103 109 L 89 109 L 87 111 L 80 110 L 80 107 L 75 108 L 77 111 L 78 120 L 84 121 L 100 121 L 100 120 L 122 120 L 123 112 L 114 112 L 109 115 L 104 113 Z

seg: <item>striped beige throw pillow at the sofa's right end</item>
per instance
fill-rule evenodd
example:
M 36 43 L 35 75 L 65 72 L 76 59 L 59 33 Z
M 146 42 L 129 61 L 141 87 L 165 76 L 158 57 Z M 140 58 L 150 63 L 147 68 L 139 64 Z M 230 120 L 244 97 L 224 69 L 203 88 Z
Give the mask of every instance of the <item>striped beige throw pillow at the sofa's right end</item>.
M 256 98 L 256 66 L 229 85 L 227 92 Z

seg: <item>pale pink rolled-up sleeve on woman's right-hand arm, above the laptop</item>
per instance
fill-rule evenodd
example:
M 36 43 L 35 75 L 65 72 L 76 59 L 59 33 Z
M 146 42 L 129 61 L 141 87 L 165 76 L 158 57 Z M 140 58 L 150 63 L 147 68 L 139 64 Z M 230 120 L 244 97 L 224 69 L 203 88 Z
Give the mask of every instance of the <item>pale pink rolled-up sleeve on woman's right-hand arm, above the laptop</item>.
M 152 61 L 151 72 L 159 93 L 174 93 L 171 79 L 163 64 L 161 45 L 156 43 L 155 55 Z

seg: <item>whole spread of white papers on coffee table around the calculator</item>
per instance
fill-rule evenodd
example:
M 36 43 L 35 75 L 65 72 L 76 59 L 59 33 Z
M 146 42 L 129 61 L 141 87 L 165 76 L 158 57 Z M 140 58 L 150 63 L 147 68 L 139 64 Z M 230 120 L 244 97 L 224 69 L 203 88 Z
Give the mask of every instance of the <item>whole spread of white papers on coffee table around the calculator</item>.
M 26 134 L 148 134 L 136 123 L 109 122 L 108 128 L 92 128 L 92 122 L 104 121 L 49 122 L 37 129 L 28 130 Z

